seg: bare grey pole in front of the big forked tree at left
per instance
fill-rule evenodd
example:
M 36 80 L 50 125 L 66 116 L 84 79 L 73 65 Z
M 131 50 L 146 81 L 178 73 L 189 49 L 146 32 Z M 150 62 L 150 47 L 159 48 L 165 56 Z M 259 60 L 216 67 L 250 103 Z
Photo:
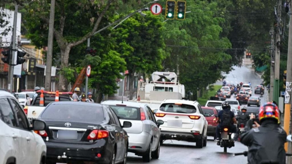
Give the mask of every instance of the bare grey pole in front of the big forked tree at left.
M 46 61 L 45 90 L 51 91 L 51 70 L 54 38 L 54 19 L 55 19 L 55 0 L 51 0 L 49 35 L 48 35 L 48 52 Z

